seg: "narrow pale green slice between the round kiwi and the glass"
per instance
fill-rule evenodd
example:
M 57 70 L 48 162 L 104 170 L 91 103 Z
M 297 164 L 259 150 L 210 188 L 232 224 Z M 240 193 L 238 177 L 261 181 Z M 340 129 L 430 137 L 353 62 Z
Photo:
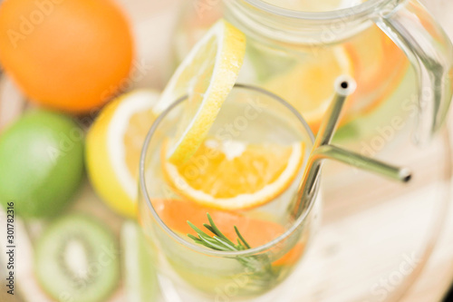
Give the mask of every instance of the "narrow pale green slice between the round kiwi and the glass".
M 159 297 L 155 258 L 137 223 L 126 221 L 121 229 L 122 265 L 128 302 L 154 302 Z

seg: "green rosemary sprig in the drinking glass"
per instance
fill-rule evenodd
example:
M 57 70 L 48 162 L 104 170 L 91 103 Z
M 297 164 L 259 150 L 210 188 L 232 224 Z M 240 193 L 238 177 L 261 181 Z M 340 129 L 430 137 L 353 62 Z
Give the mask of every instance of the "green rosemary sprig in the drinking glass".
M 207 213 L 207 220 L 209 224 L 204 223 L 203 226 L 214 234 L 213 236 L 209 236 L 206 232 L 198 229 L 193 223 L 188 221 L 190 228 L 194 229 L 198 235 L 196 237 L 188 234 L 188 238 L 193 239 L 199 245 L 221 251 L 240 251 L 251 248 L 236 226 L 234 228 L 237 235 L 237 244 L 226 238 L 220 229 L 217 228 L 209 213 Z M 277 277 L 270 259 L 265 254 L 236 257 L 236 260 L 246 268 L 246 275 L 253 281 L 249 286 L 265 287 Z

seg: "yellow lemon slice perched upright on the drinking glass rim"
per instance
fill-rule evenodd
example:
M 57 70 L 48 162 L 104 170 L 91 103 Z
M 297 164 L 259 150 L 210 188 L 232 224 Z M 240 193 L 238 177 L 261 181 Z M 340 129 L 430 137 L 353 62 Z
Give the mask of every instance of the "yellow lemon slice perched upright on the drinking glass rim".
M 179 65 L 154 109 L 159 114 L 188 94 L 169 161 L 180 164 L 197 151 L 236 83 L 245 54 L 246 36 L 220 20 Z

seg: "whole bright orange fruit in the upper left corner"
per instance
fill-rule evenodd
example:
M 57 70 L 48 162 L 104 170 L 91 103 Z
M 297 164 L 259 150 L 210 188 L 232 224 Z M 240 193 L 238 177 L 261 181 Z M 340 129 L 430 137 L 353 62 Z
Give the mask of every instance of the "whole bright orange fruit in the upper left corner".
M 110 0 L 5 0 L 0 63 L 34 102 L 88 112 L 130 73 L 130 25 Z

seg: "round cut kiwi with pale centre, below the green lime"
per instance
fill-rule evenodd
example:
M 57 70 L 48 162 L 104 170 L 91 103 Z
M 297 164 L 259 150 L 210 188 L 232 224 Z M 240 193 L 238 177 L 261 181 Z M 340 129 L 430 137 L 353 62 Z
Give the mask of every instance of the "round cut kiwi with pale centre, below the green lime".
M 57 301 L 103 301 L 120 279 L 113 234 L 82 214 L 55 220 L 38 240 L 34 256 L 38 282 Z

